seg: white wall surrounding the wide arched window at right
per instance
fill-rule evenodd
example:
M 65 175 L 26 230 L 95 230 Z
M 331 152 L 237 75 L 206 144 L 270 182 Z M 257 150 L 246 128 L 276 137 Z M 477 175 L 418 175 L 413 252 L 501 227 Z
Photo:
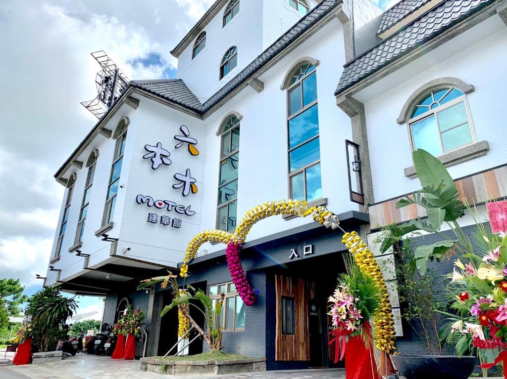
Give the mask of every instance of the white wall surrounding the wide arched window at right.
M 409 96 L 424 83 L 445 76 L 475 86 L 468 103 L 478 141 L 486 140 L 487 155 L 449 167 L 460 178 L 507 162 L 501 139 L 507 121 L 504 108 L 507 76 L 507 28 L 498 16 L 418 58 L 354 96 L 365 103 L 375 201 L 383 201 L 420 188 L 403 170 L 413 165 L 407 125 L 396 118 Z

